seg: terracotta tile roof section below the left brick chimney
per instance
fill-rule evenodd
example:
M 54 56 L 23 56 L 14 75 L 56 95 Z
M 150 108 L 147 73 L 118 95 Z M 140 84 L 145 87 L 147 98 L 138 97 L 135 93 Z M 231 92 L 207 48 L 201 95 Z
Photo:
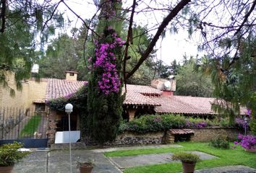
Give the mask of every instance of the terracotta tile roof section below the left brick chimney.
M 74 94 L 88 81 L 67 81 L 64 79 L 48 79 L 46 86 L 46 100 L 67 97 Z

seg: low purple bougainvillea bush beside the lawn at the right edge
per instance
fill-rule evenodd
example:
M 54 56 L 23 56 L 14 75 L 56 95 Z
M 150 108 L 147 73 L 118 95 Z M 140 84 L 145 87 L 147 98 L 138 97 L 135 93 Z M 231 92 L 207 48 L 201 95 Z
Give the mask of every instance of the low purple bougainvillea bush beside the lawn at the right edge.
M 242 134 L 238 135 L 238 139 L 240 142 L 234 141 L 234 145 L 241 145 L 243 148 L 247 150 L 255 150 L 256 149 L 256 136 L 247 135 L 243 136 Z M 235 148 L 235 146 L 233 148 Z

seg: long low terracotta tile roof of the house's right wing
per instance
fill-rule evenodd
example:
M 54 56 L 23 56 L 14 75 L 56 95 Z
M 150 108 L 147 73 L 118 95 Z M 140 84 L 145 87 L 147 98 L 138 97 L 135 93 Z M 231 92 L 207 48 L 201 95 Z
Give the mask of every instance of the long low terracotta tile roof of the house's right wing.
M 216 114 L 216 112 L 211 110 L 213 98 L 172 95 L 151 97 L 150 99 L 161 104 L 161 106 L 155 107 L 155 112 L 158 113 Z

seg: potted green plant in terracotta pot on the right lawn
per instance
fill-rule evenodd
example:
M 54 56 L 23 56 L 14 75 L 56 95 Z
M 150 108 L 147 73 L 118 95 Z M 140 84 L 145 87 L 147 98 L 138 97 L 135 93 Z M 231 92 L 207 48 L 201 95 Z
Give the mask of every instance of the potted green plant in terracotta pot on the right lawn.
M 195 171 L 195 164 L 201 161 L 197 154 L 180 152 L 171 156 L 173 160 L 182 161 L 182 167 L 184 173 L 192 173 Z

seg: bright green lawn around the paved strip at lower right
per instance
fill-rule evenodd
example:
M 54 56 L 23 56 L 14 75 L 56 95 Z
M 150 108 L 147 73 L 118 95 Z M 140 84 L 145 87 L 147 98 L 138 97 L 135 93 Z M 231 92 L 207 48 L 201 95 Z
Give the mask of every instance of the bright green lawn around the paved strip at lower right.
M 204 169 L 211 167 L 224 167 L 227 165 L 244 165 L 247 167 L 256 168 L 256 154 L 248 153 L 244 151 L 242 147 L 236 149 L 219 149 L 208 146 L 208 143 L 192 143 L 182 142 L 178 143 L 183 146 L 180 148 L 150 148 L 141 150 L 130 151 L 112 151 L 105 153 L 106 156 L 135 156 L 139 154 L 160 154 L 178 151 L 202 151 L 213 156 L 217 156 L 218 159 L 203 160 L 197 163 L 195 169 Z M 168 172 L 182 172 L 181 162 L 170 164 L 155 164 L 144 167 L 133 167 L 125 169 L 124 173 L 168 173 Z

